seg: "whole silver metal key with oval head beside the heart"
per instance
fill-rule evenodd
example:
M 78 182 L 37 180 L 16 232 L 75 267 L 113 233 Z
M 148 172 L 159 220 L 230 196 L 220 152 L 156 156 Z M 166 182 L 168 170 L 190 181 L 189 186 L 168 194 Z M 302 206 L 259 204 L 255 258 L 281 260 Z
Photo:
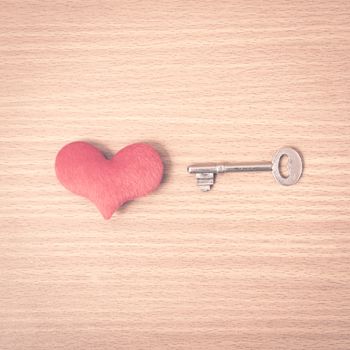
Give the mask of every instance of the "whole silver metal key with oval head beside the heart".
M 283 176 L 280 171 L 280 162 L 283 156 L 288 157 L 288 176 Z M 216 174 L 245 171 L 272 171 L 277 182 L 284 186 L 290 186 L 299 181 L 303 173 L 303 161 L 295 149 L 285 147 L 274 155 L 271 163 L 189 166 L 187 171 L 190 174 L 196 174 L 197 185 L 205 192 L 214 185 Z

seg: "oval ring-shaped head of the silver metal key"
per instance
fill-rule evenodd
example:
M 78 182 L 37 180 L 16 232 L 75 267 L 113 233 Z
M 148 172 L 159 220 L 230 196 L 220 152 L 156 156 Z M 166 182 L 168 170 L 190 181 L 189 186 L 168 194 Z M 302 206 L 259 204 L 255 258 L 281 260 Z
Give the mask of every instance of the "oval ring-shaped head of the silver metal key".
M 280 171 L 280 162 L 283 156 L 288 157 L 288 176 L 283 176 Z M 272 174 L 275 179 L 284 186 L 296 184 L 303 173 L 303 161 L 300 154 L 293 148 L 281 148 L 272 159 Z

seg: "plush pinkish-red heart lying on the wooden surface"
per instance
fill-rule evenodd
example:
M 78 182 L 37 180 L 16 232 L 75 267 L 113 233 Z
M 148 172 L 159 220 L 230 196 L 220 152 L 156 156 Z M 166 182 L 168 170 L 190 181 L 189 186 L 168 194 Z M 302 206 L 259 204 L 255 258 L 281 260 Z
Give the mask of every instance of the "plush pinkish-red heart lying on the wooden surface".
M 163 176 L 158 152 L 135 143 L 106 159 L 86 142 L 64 146 L 56 157 L 56 175 L 64 187 L 90 199 L 105 219 L 125 202 L 154 191 Z

